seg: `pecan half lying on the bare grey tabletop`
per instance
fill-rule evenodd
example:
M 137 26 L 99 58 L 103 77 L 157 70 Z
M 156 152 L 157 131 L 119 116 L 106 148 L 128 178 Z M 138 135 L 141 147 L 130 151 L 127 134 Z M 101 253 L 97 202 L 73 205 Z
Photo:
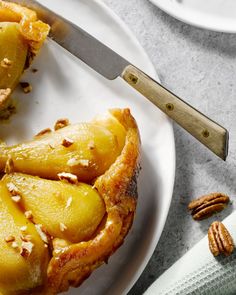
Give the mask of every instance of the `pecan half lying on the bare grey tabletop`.
M 193 219 L 202 220 L 223 210 L 229 203 L 229 197 L 222 193 L 212 193 L 193 200 L 188 205 Z

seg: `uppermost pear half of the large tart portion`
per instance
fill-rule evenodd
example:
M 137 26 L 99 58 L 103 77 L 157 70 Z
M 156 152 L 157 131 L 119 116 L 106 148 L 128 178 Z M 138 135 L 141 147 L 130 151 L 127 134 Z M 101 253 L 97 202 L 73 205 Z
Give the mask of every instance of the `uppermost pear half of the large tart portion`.
M 69 125 L 26 143 L 1 146 L 0 170 L 11 157 L 15 172 L 49 179 L 67 172 L 90 182 L 115 162 L 124 146 L 125 128 L 115 118 L 109 127 L 106 122 Z

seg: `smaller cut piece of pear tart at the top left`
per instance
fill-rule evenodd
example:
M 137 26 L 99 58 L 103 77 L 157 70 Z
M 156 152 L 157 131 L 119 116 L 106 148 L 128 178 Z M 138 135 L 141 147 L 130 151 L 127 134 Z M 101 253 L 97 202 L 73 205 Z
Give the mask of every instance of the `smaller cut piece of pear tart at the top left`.
M 49 26 L 34 11 L 0 0 L 0 112 L 48 32 Z

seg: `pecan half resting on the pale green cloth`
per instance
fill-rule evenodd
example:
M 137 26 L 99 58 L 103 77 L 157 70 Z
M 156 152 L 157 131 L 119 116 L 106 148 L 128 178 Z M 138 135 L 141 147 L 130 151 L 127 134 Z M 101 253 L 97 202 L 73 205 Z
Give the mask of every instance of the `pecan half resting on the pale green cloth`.
M 229 256 L 234 250 L 233 239 L 220 221 L 215 221 L 210 226 L 208 230 L 208 241 L 209 248 L 214 256 L 218 256 L 219 254 Z

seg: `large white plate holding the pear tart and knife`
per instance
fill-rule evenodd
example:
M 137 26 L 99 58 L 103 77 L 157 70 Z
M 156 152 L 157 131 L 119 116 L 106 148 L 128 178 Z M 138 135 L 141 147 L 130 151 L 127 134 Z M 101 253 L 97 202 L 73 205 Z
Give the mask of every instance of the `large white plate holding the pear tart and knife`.
M 144 50 L 126 26 L 100 1 L 41 0 L 54 11 L 81 25 L 134 64 L 157 78 Z M 78 44 L 79 46 L 79 44 Z M 125 294 L 149 261 L 163 230 L 172 197 L 175 149 L 171 122 L 121 80 L 108 81 L 52 41 L 47 42 L 33 68 L 22 79 L 30 94 L 18 89 L 18 112 L 0 126 L 8 143 L 31 138 L 61 117 L 71 122 L 91 119 L 108 108 L 129 107 L 137 119 L 143 145 L 139 202 L 134 226 L 124 245 L 69 294 Z

